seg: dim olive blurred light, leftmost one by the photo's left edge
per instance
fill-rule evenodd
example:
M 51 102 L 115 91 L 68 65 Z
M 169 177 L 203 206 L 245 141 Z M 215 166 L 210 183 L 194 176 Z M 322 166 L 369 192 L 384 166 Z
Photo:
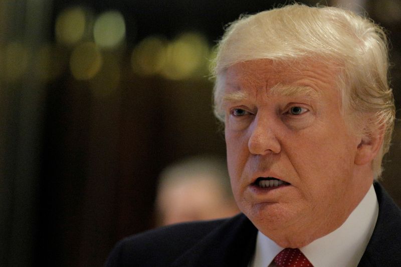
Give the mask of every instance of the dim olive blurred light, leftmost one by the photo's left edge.
M 10 43 L 4 51 L 5 69 L 2 70 L 6 80 L 14 81 L 21 78 L 28 69 L 30 53 L 19 42 Z

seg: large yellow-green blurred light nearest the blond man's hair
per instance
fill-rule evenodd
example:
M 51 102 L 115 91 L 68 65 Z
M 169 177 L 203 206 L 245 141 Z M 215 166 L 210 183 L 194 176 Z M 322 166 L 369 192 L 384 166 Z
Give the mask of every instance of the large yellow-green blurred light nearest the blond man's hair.
M 167 47 L 166 64 L 161 74 L 171 80 L 187 79 L 204 74 L 207 69 L 209 46 L 203 35 L 185 33 Z M 197 73 L 198 72 L 198 73 Z

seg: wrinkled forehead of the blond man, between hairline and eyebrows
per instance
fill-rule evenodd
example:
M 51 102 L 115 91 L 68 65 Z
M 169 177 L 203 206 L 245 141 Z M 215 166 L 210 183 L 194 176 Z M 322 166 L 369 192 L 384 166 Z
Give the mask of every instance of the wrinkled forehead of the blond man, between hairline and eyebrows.
M 334 93 L 337 92 L 334 89 L 337 88 L 335 77 L 338 72 L 339 68 L 335 64 L 311 60 L 273 62 L 264 59 L 241 62 L 227 69 L 224 100 L 261 90 L 265 90 L 268 95 L 286 96 L 317 97 L 325 91 Z

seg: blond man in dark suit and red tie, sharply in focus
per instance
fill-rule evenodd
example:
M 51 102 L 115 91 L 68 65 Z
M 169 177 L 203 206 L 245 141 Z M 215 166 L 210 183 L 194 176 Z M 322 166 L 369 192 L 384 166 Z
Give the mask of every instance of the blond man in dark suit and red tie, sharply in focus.
M 383 31 L 341 9 L 231 24 L 215 112 L 243 213 L 129 237 L 109 266 L 401 266 L 401 211 L 374 182 L 394 122 L 387 68 Z

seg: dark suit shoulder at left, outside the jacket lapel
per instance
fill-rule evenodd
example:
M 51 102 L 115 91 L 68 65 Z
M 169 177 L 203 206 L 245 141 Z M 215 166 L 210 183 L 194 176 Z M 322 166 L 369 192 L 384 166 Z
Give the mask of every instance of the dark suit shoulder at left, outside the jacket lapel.
M 180 223 L 135 234 L 119 241 L 106 266 L 166 266 L 212 232 L 235 224 L 237 217 Z M 224 230 L 223 230 L 224 231 Z

